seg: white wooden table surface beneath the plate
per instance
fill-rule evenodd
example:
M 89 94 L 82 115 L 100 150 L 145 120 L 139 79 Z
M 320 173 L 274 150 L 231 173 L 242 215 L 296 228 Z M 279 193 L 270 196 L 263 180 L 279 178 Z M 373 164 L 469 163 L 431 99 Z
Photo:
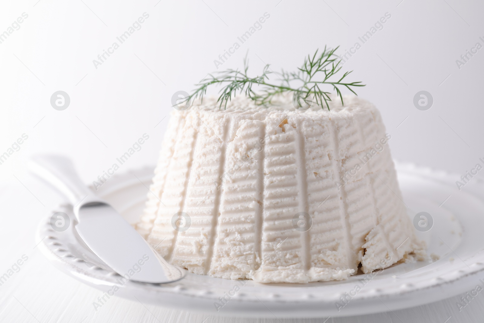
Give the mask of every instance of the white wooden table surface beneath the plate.
M 177 309 L 143 305 L 112 297 L 102 308 L 92 303 L 102 292 L 88 287 L 57 270 L 36 248 L 35 230 L 51 206 L 60 201 L 52 191 L 39 185 L 27 174 L 0 185 L 0 276 L 13 273 L 0 286 L 0 322 L 15 323 L 118 323 L 118 322 L 325 322 L 319 319 L 266 319 L 208 316 Z M 28 257 L 18 272 L 12 265 Z M 22 262 L 22 261 L 20 261 Z M 17 266 L 14 266 L 17 270 Z M 483 277 L 484 278 L 484 277 Z M 359 317 L 329 318 L 326 322 L 484 322 L 484 294 L 478 294 L 459 312 L 460 296 L 405 310 Z M 188 306 L 189 307 L 189 306 Z

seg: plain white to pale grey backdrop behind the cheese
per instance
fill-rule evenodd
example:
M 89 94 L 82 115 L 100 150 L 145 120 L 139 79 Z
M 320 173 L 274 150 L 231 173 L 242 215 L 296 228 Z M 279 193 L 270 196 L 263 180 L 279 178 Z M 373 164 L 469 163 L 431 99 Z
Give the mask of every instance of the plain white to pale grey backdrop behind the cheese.
M 358 37 L 388 12 L 384 28 L 343 69 L 367 84 L 357 92 L 381 111 L 393 157 L 459 176 L 484 157 L 484 49 L 460 69 L 455 62 L 477 42 L 484 45 L 480 1 L 2 1 L 0 32 L 24 12 L 20 29 L 0 44 L 0 154 L 29 136 L 0 165 L 0 179 L 25 194 L 19 213 L 46 212 L 55 201 L 29 184 L 32 154 L 68 155 L 91 183 L 146 133 L 150 139 L 119 171 L 153 165 L 173 93 L 190 92 L 266 12 L 262 29 L 220 69 L 241 67 L 248 50 L 254 76 L 264 63 L 293 70 L 324 45 L 340 45 L 342 53 L 362 44 Z M 145 12 L 141 29 L 96 69 L 92 61 Z M 63 111 L 50 105 L 59 90 L 71 99 Z M 422 90 L 434 98 L 427 111 L 413 105 Z M 2 243 L 17 241 L 20 229 L 2 228 Z M 30 246 L 33 237 L 26 239 Z M 6 249 L 6 261 L 17 253 Z

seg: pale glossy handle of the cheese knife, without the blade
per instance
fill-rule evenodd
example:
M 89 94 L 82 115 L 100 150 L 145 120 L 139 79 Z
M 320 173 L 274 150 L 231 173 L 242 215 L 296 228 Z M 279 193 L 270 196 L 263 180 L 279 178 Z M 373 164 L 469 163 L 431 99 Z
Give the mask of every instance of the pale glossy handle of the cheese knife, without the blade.
M 74 206 L 74 213 L 87 203 L 106 203 L 82 183 L 72 161 L 63 156 L 38 155 L 29 163 L 32 173 L 57 188 Z M 82 201 L 82 204 L 80 203 Z M 79 220 L 79 219 L 77 219 Z

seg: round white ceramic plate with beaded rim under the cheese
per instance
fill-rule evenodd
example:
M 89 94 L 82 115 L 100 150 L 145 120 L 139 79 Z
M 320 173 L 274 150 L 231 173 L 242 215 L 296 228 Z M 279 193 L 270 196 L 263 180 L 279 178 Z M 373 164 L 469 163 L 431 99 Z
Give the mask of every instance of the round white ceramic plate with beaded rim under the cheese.
M 427 242 L 428 254 L 436 254 L 440 259 L 395 264 L 374 272 L 373 277 L 360 273 L 345 281 L 260 284 L 188 274 L 165 285 L 121 285 L 116 281 L 120 276 L 79 241 L 73 225 L 63 232 L 50 227 L 50 216 L 58 211 L 68 214 L 74 223 L 70 205 L 49 212 L 39 225 L 37 241 L 44 239 L 39 245 L 43 253 L 63 272 L 110 291 L 110 295 L 209 314 L 272 318 L 350 316 L 419 306 L 473 290 L 484 271 L 484 183 L 475 178 L 459 191 L 455 185 L 459 176 L 455 174 L 408 164 L 397 164 L 397 171 L 409 216 L 413 219 L 424 211 L 433 218 L 432 229 L 418 233 Z M 151 176 L 152 169 L 113 176 L 98 193 L 130 223 L 136 223 Z M 119 291 L 114 292 L 115 285 Z M 227 296 L 230 294 L 234 295 Z M 224 296 L 227 301 L 220 301 Z M 341 297 L 347 301 L 343 303 Z

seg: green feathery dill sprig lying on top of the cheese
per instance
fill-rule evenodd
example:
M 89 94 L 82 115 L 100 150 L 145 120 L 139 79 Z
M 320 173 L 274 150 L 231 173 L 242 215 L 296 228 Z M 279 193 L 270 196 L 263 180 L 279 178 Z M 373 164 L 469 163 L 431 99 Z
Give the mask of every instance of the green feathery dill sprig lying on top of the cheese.
M 338 46 L 339 47 L 339 46 Z M 343 96 L 339 87 L 347 88 L 349 91 L 356 94 L 351 87 L 365 86 L 362 82 L 344 82 L 344 79 L 352 72 L 345 72 L 339 79 L 334 77 L 340 70 L 341 59 L 334 54 L 336 49 L 327 49 L 326 46 L 322 53 L 318 55 L 318 50 L 313 56 L 308 55 L 304 58 L 304 63 L 301 67 L 298 67 L 297 72 L 287 72 L 282 70 L 281 73 L 273 72 L 270 68 L 270 64 L 266 64 L 262 70 L 262 74 L 257 77 L 249 77 L 249 61 L 247 55 L 243 60 L 243 70 L 228 69 L 222 72 L 216 72 L 215 75 L 209 74 L 206 78 L 201 80 L 192 94 L 183 99 L 182 102 L 190 101 L 200 97 L 203 101 L 203 95 L 207 93 L 207 88 L 211 85 L 222 85 L 222 89 L 219 91 L 217 103 L 220 104 L 219 108 L 224 106 L 227 108 L 228 101 L 231 101 L 232 96 L 236 96 L 237 91 L 245 93 L 246 96 L 256 102 L 257 105 L 267 106 L 271 104 L 271 100 L 278 94 L 284 92 L 293 92 L 295 100 L 299 107 L 312 103 L 314 100 L 317 105 L 324 108 L 324 104 L 329 108 L 328 102 L 331 101 L 328 90 L 322 90 L 323 85 L 332 86 L 336 91 L 337 97 L 341 98 L 341 104 L 343 103 Z M 269 75 L 274 74 L 280 80 L 281 84 L 272 84 L 269 81 Z M 322 79 L 321 79 L 322 78 Z M 299 86 L 293 85 L 298 83 Z M 314 97 L 314 99 L 313 99 Z M 303 102 L 301 102 L 301 99 Z

